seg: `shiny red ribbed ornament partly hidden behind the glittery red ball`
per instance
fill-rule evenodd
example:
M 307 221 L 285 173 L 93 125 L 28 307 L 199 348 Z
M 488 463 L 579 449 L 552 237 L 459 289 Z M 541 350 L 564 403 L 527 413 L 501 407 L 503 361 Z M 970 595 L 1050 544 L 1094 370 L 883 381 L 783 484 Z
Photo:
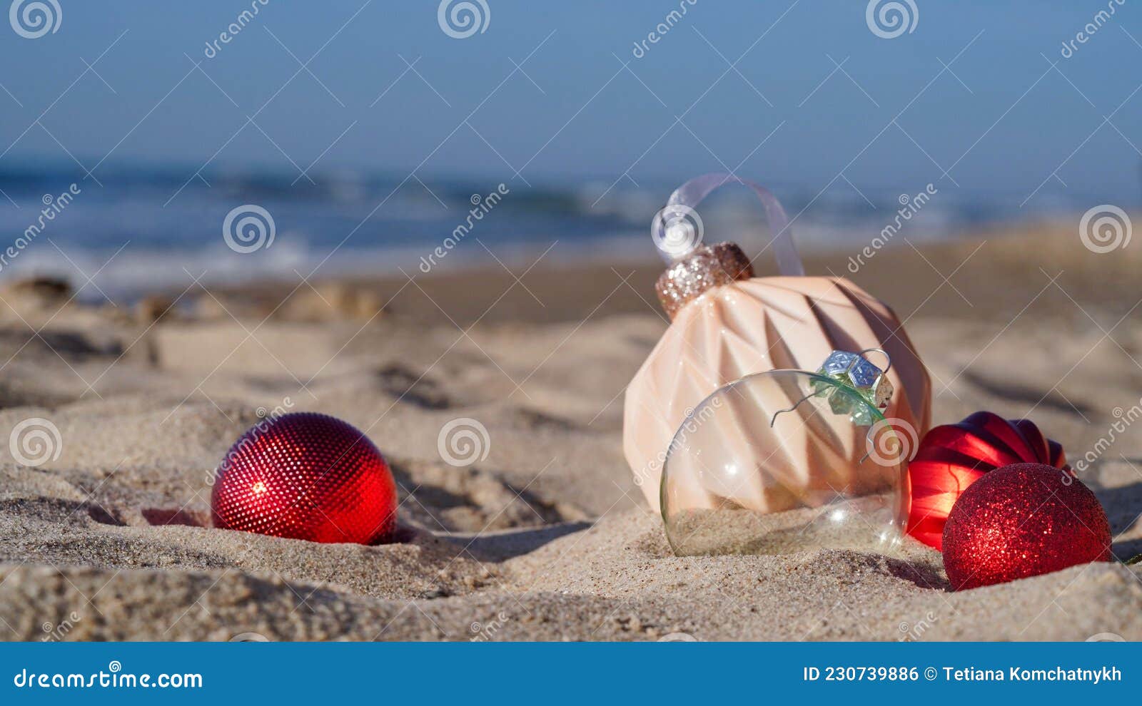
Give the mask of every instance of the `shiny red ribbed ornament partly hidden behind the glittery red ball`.
M 976 412 L 934 427 L 908 464 L 908 534 L 943 549 L 943 524 L 959 496 L 984 473 L 1012 463 L 1045 463 L 1070 472 L 1063 448 L 1029 420 Z

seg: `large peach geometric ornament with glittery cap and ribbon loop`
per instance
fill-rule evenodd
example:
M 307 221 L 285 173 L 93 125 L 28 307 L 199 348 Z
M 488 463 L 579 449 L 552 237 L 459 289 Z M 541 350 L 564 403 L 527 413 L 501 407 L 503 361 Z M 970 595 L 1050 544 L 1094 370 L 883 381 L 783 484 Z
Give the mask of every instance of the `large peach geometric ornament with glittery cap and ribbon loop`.
M 761 198 L 781 276 L 754 277 L 748 258 L 732 243 L 701 245 L 694 206 L 733 182 Z M 692 179 L 656 217 L 652 235 L 669 262 L 656 289 L 671 323 L 627 387 L 622 437 L 635 484 L 653 510 L 660 510 L 662 464 L 679 425 L 707 396 L 746 375 L 815 371 L 834 350 L 880 349 L 892 360 L 885 375 L 895 390 L 884 417 L 894 427 L 910 427 L 910 437 L 927 431 L 931 382 L 900 319 L 849 279 L 805 276 L 789 219 L 765 188 L 724 173 Z M 829 472 L 813 468 L 809 452 L 790 461 L 803 466 L 807 486 Z M 762 490 L 758 497 L 783 496 Z M 749 504 L 757 502 L 762 505 L 755 510 L 763 512 L 789 509 L 778 500 Z

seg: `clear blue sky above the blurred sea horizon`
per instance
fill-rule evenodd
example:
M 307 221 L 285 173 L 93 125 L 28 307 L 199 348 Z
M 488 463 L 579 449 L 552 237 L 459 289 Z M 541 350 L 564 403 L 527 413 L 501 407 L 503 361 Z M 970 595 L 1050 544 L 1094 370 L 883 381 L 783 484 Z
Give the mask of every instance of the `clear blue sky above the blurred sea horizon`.
M 573 184 L 740 164 L 770 184 L 935 182 L 1028 208 L 1060 192 L 1137 204 L 1142 190 L 1131 0 L 1110 0 L 1113 16 L 1069 58 L 1062 42 L 1105 0 L 915 0 L 912 31 L 893 39 L 856 0 L 486 0 L 484 32 L 466 39 L 429 0 L 268 0 L 214 58 L 207 42 L 249 0 L 57 1 L 55 33 L 0 31 L 0 169 L 298 177 L 315 163 L 315 180 Z

